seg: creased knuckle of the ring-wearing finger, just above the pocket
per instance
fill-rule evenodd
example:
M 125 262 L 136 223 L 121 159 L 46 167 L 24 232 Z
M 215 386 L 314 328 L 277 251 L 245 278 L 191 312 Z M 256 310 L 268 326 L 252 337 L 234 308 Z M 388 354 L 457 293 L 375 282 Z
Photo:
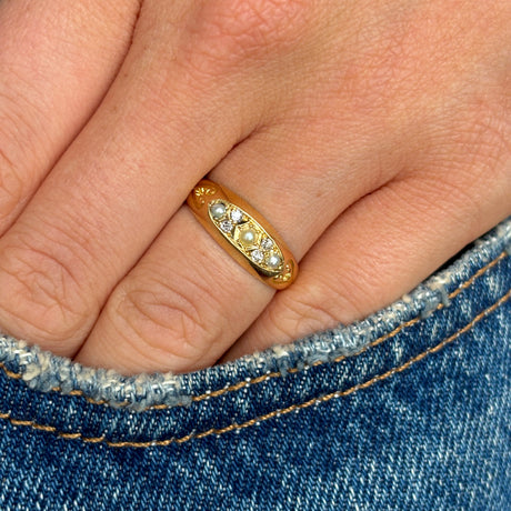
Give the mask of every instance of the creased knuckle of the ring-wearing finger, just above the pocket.
M 141 282 L 133 277 L 124 279 L 116 289 L 108 314 L 114 323 L 120 321 L 128 327 L 133 333 L 130 342 L 144 357 L 164 353 L 176 361 L 176 367 L 178 361 L 190 367 L 204 358 L 212 344 L 211 337 L 216 335 L 213 323 L 208 327 L 206 314 L 196 302 L 197 298 L 178 291 L 174 283 L 167 285 L 154 279 Z

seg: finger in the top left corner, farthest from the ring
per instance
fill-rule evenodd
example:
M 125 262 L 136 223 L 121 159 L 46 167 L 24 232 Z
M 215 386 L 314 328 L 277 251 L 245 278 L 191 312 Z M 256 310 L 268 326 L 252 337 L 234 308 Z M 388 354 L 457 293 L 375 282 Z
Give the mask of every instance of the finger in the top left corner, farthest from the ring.
M 138 1 L 0 3 L 0 234 L 96 109 Z

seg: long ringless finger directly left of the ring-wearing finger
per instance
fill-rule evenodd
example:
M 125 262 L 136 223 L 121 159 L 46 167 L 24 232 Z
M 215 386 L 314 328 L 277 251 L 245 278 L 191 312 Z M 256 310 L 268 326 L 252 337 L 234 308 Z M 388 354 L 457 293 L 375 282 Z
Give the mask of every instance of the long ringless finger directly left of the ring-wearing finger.
M 1 328 L 58 354 L 77 351 L 118 281 L 264 110 L 230 56 L 187 42 L 193 2 L 144 6 L 101 107 L 0 240 Z

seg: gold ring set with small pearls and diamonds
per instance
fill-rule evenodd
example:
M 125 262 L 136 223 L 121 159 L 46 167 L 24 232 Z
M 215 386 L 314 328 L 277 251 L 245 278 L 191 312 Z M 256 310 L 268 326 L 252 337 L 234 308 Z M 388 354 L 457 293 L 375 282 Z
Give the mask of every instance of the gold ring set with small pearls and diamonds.
M 291 251 L 267 220 L 233 191 L 203 179 L 187 203 L 211 237 L 247 271 L 275 289 L 294 281 L 298 262 Z

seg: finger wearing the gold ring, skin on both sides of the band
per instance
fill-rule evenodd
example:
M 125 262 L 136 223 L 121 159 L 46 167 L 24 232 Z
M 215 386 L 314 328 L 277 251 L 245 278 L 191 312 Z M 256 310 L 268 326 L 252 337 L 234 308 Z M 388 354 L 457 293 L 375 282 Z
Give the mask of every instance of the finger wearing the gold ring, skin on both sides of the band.
M 355 161 L 367 166 L 360 151 L 372 148 L 339 148 L 337 159 L 342 152 L 352 172 L 347 170 L 333 183 L 329 170 L 340 172 L 332 151 L 325 150 L 332 147 L 328 127 L 313 131 L 308 127 L 307 147 L 302 127 L 254 133 L 210 174 L 260 211 L 297 258 L 371 186 L 360 179 Z M 273 293 L 217 246 L 183 207 L 116 288 L 76 360 L 122 373 L 206 367 L 239 338 Z

